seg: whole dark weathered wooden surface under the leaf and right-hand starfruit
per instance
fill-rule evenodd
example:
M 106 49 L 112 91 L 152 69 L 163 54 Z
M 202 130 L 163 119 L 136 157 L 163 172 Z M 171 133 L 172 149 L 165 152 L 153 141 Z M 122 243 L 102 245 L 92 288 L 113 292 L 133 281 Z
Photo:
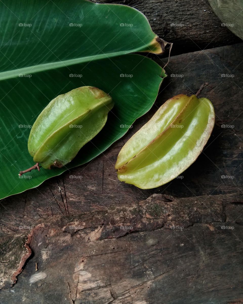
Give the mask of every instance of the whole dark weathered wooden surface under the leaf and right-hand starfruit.
M 0 303 L 243 300 L 242 51 L 243 43 L 171 57 L 156 104 L 122 140 L 90 163 L 1 201 Z M 156 61 L 163 66 L 167 58 Z M 201 96 L 214 104 L 216 125 L 197 161 L 156 189 L 119 182 L 114 164 L 125 141 L 166 99 L 192 94 L 205 81 Z M 28 247 L 32 254 L 20 267 Z M 33 275 L 39 280 L 30 285 Z

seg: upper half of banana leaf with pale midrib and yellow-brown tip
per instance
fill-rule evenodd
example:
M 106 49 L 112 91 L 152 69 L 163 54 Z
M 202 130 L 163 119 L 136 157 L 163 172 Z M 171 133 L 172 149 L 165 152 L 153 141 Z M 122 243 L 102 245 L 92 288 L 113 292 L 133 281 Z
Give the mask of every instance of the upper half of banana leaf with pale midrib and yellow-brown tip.
M 3 0 L 0 16 L 0 78 L 137 51 L 160 54 L 167 44 L 126 5 Z

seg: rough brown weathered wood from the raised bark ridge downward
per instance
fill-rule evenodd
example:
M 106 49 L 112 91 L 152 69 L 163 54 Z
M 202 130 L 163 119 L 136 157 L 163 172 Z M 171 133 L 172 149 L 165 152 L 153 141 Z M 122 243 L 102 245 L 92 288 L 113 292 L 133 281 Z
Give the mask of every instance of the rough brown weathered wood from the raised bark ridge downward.
M 39 220 L 33 257 L 1 303 L 235 302 L 243 298 L 242 207 L 240 195 L 154 194 Z

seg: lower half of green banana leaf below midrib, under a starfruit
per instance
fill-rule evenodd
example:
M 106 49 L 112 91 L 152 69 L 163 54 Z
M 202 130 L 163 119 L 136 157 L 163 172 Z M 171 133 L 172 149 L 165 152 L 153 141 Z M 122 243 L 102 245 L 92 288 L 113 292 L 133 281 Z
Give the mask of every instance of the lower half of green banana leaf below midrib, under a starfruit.
M 164 74 L 153 60 L 127 54 L 69 67 L 12 77 L 0 81 L 0 198 L 40 185 L 46 179 L 84 164 L 121 138 L 130 125 L 153 105 Z M 130 75 L 128 77 L 128 75 Z M 123 77 L 124 76 L 124 77 Z M 162 78 L 161 78 L 162 77 Z M 91 85 L 111 95 L 115 102 L 101 132 L 87 143 L 66 167 L 23 174 L 34 165 L 27 149 L 30 128 L 42 109 L 57 95 Z M 115 169 L 114 169 L 115 170 Z

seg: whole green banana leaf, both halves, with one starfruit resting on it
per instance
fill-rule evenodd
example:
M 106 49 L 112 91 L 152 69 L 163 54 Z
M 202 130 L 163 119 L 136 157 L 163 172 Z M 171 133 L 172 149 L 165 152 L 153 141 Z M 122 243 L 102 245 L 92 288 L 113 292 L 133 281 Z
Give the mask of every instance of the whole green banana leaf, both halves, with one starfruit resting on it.
M 124 54 L 161 54 L 167 43 L 152 32 L 142 13 L 125 5 L 3 0 L 0 15 L 0 198 L 4 198 L 90 161 L 121 138 L 151 108 L 166 76 L 152 60 Z M 39 113 L 57 95 L 83 85 L 98 87 L 114 99 L 104 129 L 69 166 L 42 168 L 19 178 L 20 170 L 34 164 L 27 141 Z

